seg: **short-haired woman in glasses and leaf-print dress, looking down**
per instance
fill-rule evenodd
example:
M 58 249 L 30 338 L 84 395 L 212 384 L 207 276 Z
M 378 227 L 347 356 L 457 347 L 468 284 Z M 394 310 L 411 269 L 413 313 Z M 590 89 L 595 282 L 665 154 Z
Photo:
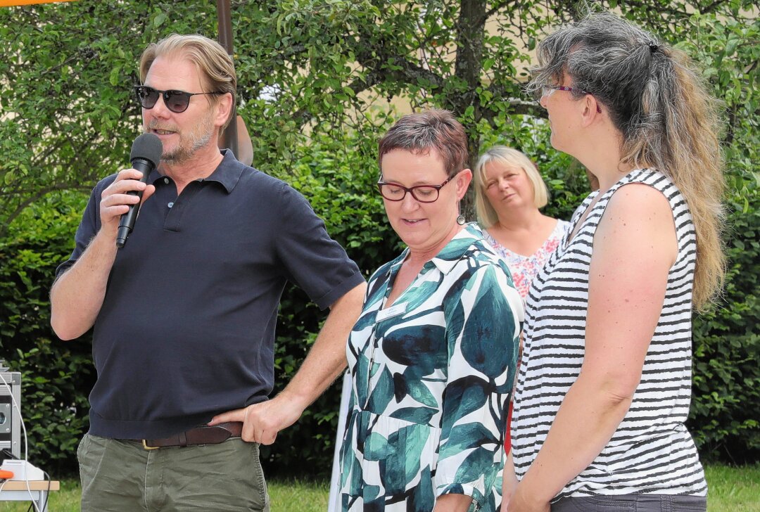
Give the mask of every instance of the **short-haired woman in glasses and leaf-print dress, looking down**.
M 467 135 L 444 110 L 379 144 L 378 188 L 407 248 L 369 278 L 347 346 L 342 510 L 495 512 L 522 303 L 459 213 Z

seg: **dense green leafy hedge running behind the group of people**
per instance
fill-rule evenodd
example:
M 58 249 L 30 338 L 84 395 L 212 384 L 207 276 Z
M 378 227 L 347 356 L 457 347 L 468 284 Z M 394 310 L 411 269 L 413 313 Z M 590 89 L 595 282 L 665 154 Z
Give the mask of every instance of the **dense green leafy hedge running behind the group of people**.
M 508 136 L 483 135 L 483 147 L 517 144 L 537 161 L 549 182 L 547 212 L 568 218 L 587 193 L 582 169 L 566 156 L 523 137 L 525 128 L 506 125 Z M 277 169 L 266 169 L 292 183 L 325 219 L 328 231 L 343 244 L 369 276 L 401 250 L 375 192 L 378 169 L 376 134 L 320 137 L 304 144 Z M 701 456 L 708 460 L 760 460 L 758 389 L 758 213 L 751 173 L 730 183 L 727 244 L 730 273 L 725 301 L 695 320 L 694 400 L 689 428 Z M 75 471 L 75 448 L 87 429 L 87 394 L 93 384 L 89 334 L 62 342 L 49 327 L 49 286 L 55 267 L 71 252 L 73 235 L 87 200 L 81 194 L 55 194 L 29 207 L 0 239 L 0 354 L 23 372 L 23 409 L 30 434 L 30 457 L 62 475 Z M 280 308 L 275 355 L 277 390 L 292 377 L 315 338 L 325 314 L 298 289 L 287 289 Z M 340 387 L 334 385 L 303 418 L 283 431 L 262 455 L 268 472 L 330 472 Z

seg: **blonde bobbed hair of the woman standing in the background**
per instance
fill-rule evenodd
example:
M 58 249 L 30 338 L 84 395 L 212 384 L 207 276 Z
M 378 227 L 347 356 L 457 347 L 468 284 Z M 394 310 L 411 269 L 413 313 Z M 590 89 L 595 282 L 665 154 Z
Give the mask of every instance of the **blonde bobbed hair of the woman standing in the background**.
M 530 180 L 530 185 L 533 185 L 533 204 L 537 208 L 546 206 L 549 201 L 549 191 L 546 189 L 546 183 L 543 182 L 536 165 L 521 151 L 506 146 L 494 146 L 480 155 L 473 172 L 475 175 L 475 211 L 477 220 L 483 228 L 488 229 L 499 222 L 496 210 L 486 198 L 486 165 L 489 163 L 498 163 L 502 166 L 524 170 L 527 179 Z

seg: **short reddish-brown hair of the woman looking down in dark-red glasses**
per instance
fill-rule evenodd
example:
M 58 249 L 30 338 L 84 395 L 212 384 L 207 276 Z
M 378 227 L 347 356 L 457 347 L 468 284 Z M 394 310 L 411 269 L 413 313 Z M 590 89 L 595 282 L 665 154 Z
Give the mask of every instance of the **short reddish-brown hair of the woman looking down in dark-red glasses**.
M 430 109 L 404 115 L 378 143 L 380 172 L 386 153 L 393 150 L 426 153 L 432 149 L 441 155 L 449 177 L 467 168 L 467 133 L 451 112 Z

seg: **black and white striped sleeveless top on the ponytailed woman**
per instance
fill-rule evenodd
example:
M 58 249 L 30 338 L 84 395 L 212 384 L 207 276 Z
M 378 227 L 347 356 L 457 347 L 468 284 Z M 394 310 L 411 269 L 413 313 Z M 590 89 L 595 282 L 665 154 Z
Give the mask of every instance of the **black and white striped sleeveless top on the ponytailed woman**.
M 644 183 L 670 201 L 678 255 L 668 273 L 660 320 L 629 412 L 590 466 L 557 495 L 707 494 L 689 432 L 692 385 L 692 284 L 696 242 L 686 201 L 666 176 L 650 169 L 625 175 L 597 201 L 577 234 L 570 233 L 597 192 L 575 210 L 571 226 L 530 287 L 523 359 L 512 418 L 515 469 L 522 479 L 546 440 L 584 357 L 588 272 L 594 232 L 622 185 Z

